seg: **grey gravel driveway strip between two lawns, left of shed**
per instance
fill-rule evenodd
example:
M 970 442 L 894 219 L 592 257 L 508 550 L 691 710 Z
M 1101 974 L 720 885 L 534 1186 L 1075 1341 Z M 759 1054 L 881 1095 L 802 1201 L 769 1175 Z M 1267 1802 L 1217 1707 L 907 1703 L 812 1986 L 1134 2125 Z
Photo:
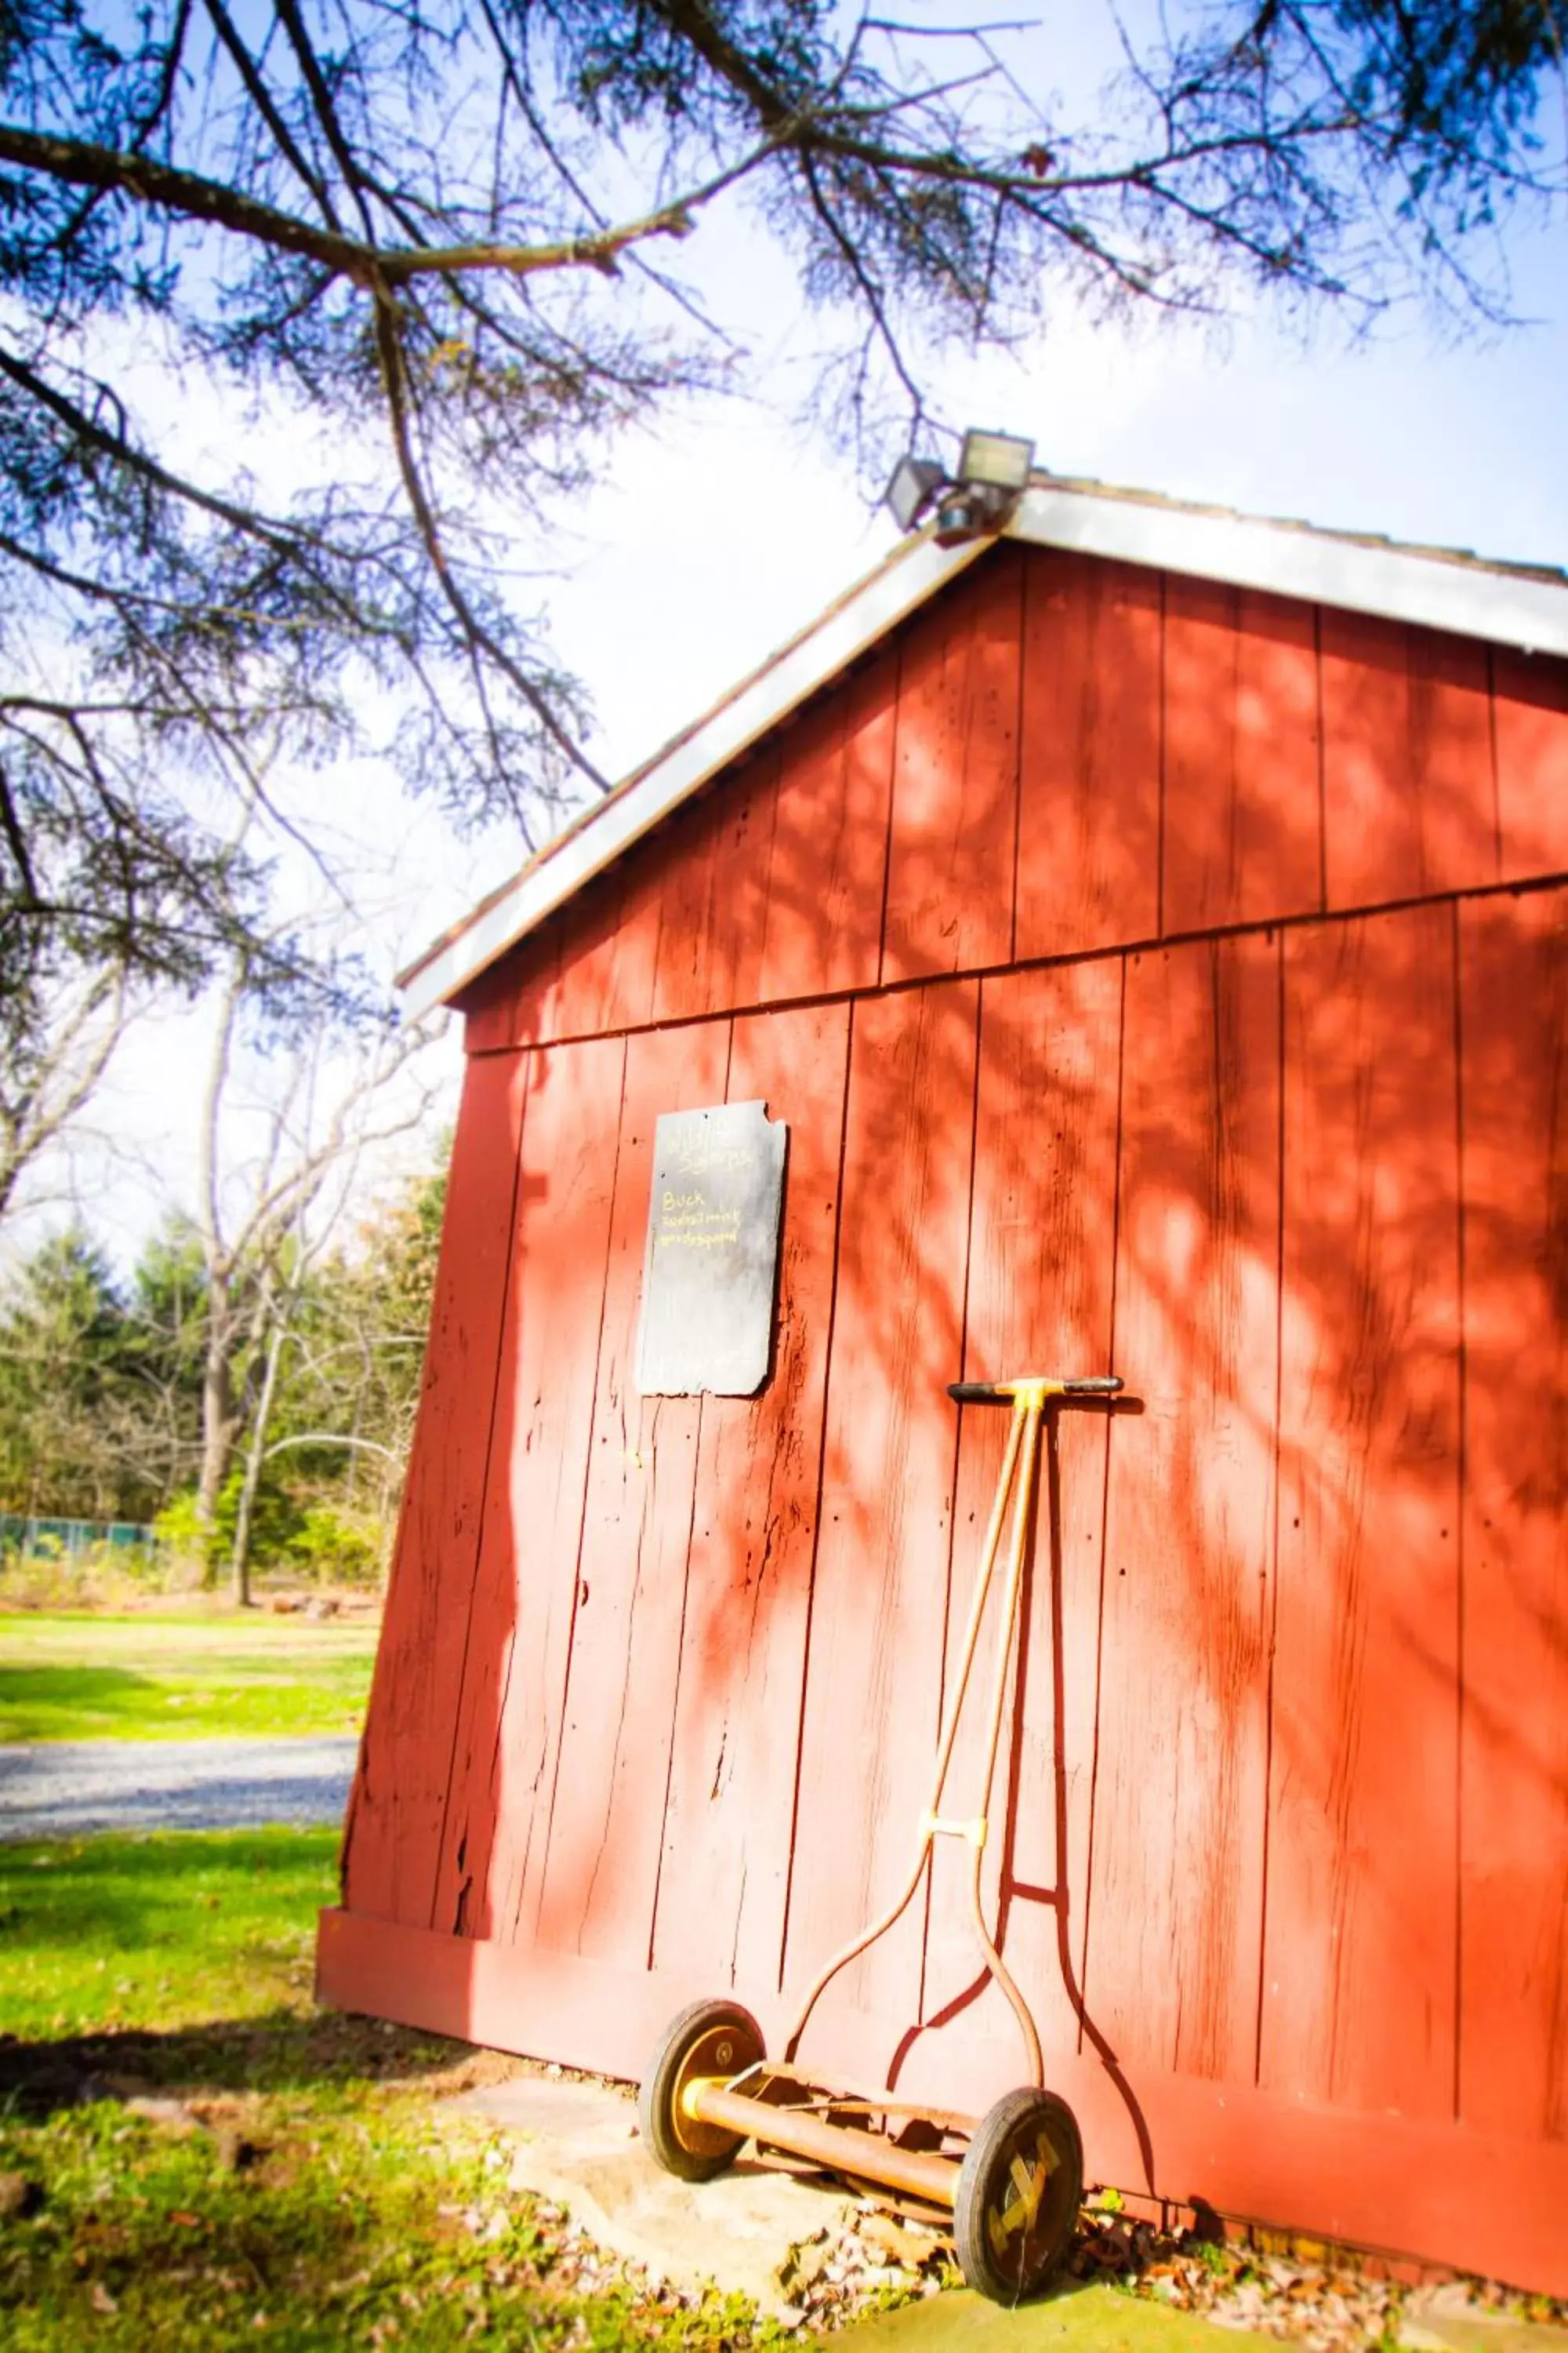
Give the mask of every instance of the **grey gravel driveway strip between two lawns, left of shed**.
M 0 1746 L 0 1838 L 341 1821 L 357 1739 Z

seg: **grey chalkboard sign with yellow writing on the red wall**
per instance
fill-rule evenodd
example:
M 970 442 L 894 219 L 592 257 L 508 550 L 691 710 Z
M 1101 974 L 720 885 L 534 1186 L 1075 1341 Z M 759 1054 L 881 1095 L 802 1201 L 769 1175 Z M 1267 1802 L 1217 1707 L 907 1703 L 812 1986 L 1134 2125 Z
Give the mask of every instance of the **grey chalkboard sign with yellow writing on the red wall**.
M 766 1381 L 785 1136 L 766 1104 L 658 1115 L 637 1334 L 644 1398 L 750 1398 Z

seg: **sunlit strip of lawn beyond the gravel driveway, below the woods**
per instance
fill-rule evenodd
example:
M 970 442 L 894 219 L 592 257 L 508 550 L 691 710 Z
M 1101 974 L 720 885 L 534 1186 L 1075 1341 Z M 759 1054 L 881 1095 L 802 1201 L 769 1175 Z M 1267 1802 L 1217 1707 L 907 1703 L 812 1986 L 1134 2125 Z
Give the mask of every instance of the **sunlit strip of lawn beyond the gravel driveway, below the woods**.
M 0 1741 L 357 1732 L 376 1626 L 0 1614 Z

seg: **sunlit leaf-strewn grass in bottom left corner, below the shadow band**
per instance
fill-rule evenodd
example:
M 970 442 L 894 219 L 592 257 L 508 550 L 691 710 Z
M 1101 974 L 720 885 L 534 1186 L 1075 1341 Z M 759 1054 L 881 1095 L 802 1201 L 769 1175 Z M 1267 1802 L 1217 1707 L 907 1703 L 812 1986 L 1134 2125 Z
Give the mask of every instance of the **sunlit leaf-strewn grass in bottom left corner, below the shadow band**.
M 193 2099 L 167 2122 L 115 2101 L 0 2125 L 35 2186 L 0 2228 L 0 2339 L 66 2346 L 750 2346 L 750 2308 L 682 2306 L 592 2266 L 505 2160 L 409 2089 L 341 2082 Z M 592 2261 L 592 2259 L 590 2259 Z

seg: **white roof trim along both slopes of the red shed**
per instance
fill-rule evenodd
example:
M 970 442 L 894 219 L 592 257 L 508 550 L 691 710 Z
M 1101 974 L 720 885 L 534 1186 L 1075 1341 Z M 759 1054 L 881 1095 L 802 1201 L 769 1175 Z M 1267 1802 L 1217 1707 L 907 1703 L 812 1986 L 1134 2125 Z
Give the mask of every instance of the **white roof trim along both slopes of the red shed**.
M 1347 612 L 1448 628 L 1495 645 L 1568 654 L 1568 579 L 1474 558 L 1345 539 L 1305 522 L 1206 513 L 1135 492 L 1034 482 L 1006 536 L 1121 562 L 1262 588 Z M 635 769 L 522 873 L 482 901 L 400 976 L 409 1021 L 449 1002 L 729 760 L 936 595 L 990 546 L 903 541 L 886 562 L 771 656 L 733 694 Z

